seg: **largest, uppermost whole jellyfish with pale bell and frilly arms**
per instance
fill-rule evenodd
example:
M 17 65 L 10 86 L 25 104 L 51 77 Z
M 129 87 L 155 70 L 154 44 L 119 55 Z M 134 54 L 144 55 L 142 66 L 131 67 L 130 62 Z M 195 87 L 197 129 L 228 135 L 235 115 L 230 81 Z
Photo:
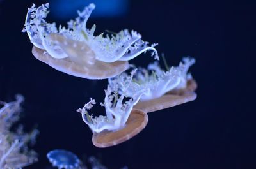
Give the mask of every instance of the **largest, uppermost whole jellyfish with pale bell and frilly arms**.
M 25 27 L 33 47 L 33 55 L 52 68 L 69 75 L 88 79 L 114 77 L 126 70 L 129 60 L 147 50 L 159 59 L 157 44 L 148 45 L 136 31 L 124 29 L 118 33 L 93 35 L 96 26 L 86 28 L 94 4 L 89 4 L 78 17 L 68 22 L 68 27 L 46 22 L 49 3 L 38 8 L 28 8 Z

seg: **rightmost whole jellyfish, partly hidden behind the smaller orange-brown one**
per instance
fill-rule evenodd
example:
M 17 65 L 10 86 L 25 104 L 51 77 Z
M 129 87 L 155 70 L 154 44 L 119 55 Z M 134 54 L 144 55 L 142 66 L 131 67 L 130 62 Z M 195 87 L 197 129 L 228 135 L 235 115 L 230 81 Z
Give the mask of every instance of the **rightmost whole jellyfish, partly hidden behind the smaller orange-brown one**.
M 134 78 L 127 87 L 126 96 L 145 90 L 138 99 L 134 108 L 143 112 L 154 112 L 163 108 L 173 107 L 196 99 L 194 92 L 197 85 L 193 80 L 189 67 L 195 63 L 195 59 L 185 57 L 179 66 L 172 67 L 168 71 L 160 68 L 158 62 L 148 65 L 148 69 L 140 68 L 134 74 Z M 114 78 L 109 78 L 109 86 L 116 88 L 122 93 L 124 87 L 120 82 L 127 77 L 127 73 L 122 73 Z

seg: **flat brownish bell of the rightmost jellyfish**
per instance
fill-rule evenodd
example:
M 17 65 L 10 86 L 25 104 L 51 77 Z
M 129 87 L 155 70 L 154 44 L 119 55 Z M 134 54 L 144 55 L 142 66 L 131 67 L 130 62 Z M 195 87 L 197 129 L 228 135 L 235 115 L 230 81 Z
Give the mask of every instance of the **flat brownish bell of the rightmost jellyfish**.
M 169 91 L 160 98 L 139 101 L 134 108 L 149 113 L 193 101 L 196 99 L 196 87 L 195 80 L 188 80 L 186 88 Z

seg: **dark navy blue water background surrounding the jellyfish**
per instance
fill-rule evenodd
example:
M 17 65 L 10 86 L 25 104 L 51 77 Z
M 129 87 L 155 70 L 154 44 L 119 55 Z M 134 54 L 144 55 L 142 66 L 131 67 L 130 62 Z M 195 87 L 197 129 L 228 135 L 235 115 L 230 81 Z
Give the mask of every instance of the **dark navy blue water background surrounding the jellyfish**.
M 36 60 L 28 36 L 20 32 L 27 8 L 46 2 L 0 3 L 0 99 L 23 94 L 21 122 L 27 130 L 35 124 L 40 130 L 35 146 L 40 161 L 28 168 L 50 166 L 45 154 L 56 148 L 80 158 L 102 157 L 111 169 L 256 168 L 253 1 L 133 0 L 125 15 L 88 21 L 89 26 L 97 24 L 97 33 L 138 31 L 143 40 L 159 43 L 157 50 L 171 65 L 186 55 L 196 58 L 191 68 L 198 82 L 196 101 L 148 114 L 139 135 L 106 149 L 92 145 L 92 131 L 76 108 L 90 97 L 103 101 L 107 81 L 72 77 Z M 49 20 L 53 18 L 50 14 Z M 146 66 L 152 61 L 140 55 L 131 62 Z M 102 109 L 93 107 L 92 112 Z

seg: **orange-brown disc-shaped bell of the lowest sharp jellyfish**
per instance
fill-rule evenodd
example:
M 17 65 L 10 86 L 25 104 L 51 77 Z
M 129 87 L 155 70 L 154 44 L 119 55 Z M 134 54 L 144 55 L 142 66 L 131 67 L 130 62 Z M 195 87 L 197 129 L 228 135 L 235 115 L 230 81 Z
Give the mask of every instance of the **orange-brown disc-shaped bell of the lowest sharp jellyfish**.
M 148 115 L 137 109 L 132 109 L 125 127 L 118 131 L 104 130 L 100 133 L 93 133 L 92 142 L 96 147 L 104 148 L 125 142 L 137 135 L 148 123 Z

